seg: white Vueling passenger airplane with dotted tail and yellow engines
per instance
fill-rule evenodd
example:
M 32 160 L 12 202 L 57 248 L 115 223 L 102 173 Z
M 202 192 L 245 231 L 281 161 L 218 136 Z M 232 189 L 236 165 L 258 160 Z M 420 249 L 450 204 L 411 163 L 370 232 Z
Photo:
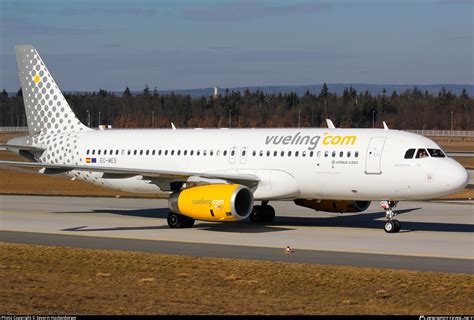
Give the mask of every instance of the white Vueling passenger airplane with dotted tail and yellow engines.
M 70 108 L 38 52 L 16 47 L 29 135 L 3 145 L 40 168 L 99 186 L 166 194 L 170 228 L 195 220 L 271 223 L 270 201 L 328 212 L 363 212 L 381 201 L 387 233 L 398 201 L 463 189 L 468 173 L 432 140 L 389 129 L 95 130 Z M 260 201 L 260 204 L 256 204 Z

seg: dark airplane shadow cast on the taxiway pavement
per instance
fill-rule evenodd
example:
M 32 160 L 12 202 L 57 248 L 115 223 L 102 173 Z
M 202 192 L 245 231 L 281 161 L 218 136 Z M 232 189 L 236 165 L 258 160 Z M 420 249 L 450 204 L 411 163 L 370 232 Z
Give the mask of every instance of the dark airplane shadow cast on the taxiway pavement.
M 397 214 L 420 210 L 421 208 L 409 208 L 397 210 Z M 90 211 L 87 211 L 90 213 Z M 160 218 L 166 219 L 168 216 L 168 208 L 158 209 L 133 209 L 133 210 L 94 210 L 94 213 L 117 214 L 133 217 Z M 66 213 L 66 212 L 62 212 Z M 68 212 L 69 213 L 69 212 Z M 77 212 L 76 212 L 77 213 Z M 360 229 L 383 229 L 385 223 L 385 212 L 361 213 L 356 215 L 339 215 L 334 217 L 318 217 L 315 213 L 314 217 L 290 217 L 278 216 L 271 224 L 255 224 L 250 221 L 238 222 L 206 222 L 196 221 L 193 229 L 200 229 L 213 232 L 233 232 L 233 233 L 265 233 L 276 231 L 292 230 L 291 227 L 336 227 L 336 228 L 360 228 Z M 440 222 L 420 222 L 420 221 L 403 221 L 402 232 L 415 231 L 439 231 L 439 232 L 474 232 L 474 225 L 459 223 L 440 223 Z M 290 227 L 290 228 L 287 228 Z M 87 226 L 79 226 L 63 229 L 63 231 L 129 231 L 129 230 L 161 230 L 169 229 L 168 225 L 159 226 L 143 226 L 143 227 L 115 227 L 115 228 L 91 228 Z

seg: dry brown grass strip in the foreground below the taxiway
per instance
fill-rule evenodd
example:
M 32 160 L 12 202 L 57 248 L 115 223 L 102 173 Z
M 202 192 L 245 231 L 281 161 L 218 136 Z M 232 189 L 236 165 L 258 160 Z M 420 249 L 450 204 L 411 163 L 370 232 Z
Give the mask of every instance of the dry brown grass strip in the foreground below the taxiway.
M 0 243 L 0 314 L 472 314 L 474 276 Z

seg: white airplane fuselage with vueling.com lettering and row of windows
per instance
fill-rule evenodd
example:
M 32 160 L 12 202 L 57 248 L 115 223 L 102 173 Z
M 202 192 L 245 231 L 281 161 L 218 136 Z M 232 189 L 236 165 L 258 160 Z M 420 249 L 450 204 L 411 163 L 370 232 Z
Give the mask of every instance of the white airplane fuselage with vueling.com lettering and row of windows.
M 135 129 L 43 138 L 50 142 L 41 162 L 252 174 L 260 179 L 256 200 L 427 199 L 456 192 L 467 183 L 466 170 L 453 159 L 405 159 L 408 149 L 440 147 L 398 130 Z M 85 171 L 69 175 L 124 191 L 163 192 L 141 176 L 110 179 Z

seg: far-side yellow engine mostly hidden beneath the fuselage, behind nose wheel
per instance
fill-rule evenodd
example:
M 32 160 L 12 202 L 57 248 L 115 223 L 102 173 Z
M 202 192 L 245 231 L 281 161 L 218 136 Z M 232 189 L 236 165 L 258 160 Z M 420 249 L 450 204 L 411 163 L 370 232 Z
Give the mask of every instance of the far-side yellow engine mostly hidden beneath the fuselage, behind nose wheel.
M 365 211 L 370 206 L 370 201 L 296 199 L 295 204 L 316 211 L 343 213 Z

